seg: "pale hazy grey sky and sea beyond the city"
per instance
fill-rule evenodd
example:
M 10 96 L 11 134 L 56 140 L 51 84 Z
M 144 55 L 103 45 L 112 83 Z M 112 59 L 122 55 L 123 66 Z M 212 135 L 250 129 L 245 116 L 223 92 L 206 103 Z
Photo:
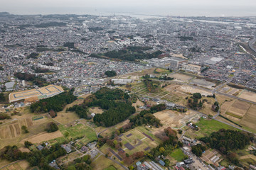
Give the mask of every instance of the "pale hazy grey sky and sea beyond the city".
M 14 14 L 256 16 L 256 0 L 0 0 L 0 4 L 0 11 Z

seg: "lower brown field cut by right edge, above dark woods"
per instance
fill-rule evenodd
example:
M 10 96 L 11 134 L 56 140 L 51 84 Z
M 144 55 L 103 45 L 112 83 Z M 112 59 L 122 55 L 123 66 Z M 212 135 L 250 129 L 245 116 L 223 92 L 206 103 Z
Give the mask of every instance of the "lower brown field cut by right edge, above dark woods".
M 256 131 L 256 106 L 252 105 L 240 121 L 241 125 Z

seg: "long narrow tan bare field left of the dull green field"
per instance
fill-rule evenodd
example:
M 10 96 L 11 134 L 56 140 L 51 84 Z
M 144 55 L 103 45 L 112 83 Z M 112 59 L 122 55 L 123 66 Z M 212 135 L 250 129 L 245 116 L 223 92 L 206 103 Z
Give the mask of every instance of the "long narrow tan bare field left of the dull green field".
M 21 142 L 25 142 L 26 140 L 32 143 L 41 143 L 43 141 L 53 140 L 57 137 L 63 137 L 63 134 L 60 132 L 60 130 L 56 132 L 41 132 L 38 133 L 38 135 L 34 135 L 32 137 L 28 137 L 26 139 L 21 140 Z

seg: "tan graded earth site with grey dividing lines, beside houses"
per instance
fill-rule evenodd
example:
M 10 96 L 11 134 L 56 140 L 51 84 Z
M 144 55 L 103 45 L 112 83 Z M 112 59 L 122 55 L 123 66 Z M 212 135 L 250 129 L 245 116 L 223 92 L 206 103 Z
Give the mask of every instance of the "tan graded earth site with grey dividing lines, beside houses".
M 63 92 L 61 86 L 48 85 L 45 87 L 41 87 L 39 89 L 31 89 L 27 91 L 18 91 L 9 94 L 9 102 L 20 101 L 26 98 L 33 98 L 34 100 L 38 100 L 41 98 L 48 98 L 51 96 L 55 96 L 56 94 L 60 94 Z

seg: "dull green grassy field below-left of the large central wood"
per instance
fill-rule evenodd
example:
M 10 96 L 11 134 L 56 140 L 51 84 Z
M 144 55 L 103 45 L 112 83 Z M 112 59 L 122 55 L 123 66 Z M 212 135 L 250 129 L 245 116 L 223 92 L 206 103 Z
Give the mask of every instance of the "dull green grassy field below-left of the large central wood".
M 83 140 L 85 143 L 92 140 L 97 140 L 95 131 L 86 125 L 79 124 L 68 128 L 66 128 L 65 125 L 59 125 L 59 130 L 63 133 L 63 135 L 65 135 L 65 132 L 68 132 L 69 140 L 71 140 L 71 138 L 75 139 L 77 137 L 85 137 L 86 140 Z

